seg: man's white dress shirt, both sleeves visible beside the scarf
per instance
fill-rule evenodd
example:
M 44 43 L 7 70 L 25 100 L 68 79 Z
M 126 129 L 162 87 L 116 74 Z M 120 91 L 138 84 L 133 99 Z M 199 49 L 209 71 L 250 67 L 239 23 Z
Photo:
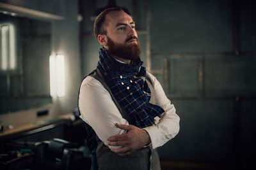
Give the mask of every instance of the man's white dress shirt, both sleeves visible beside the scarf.
M 150 136 L 152 148 L 157 148 L 176 136 L 179 132 L 180 118 L 156 77 L 148 72 L 147 76 L 151 79 L 155 90 L 156 105 L 164 110 L 160 118 L 155 118 L 156 125 L 143 128 Z M 87 76 L 81 84 L 79 110 L 80 118 L 93 128 L 107 146 L 109 136 L 126 132 L 118 129 L 115 126 L 116 123 L 129 125 L 127 120 L 122 118 L 108 90 L 104 89 L 103 85 L 92 76 Z M 119 146 L 109 146 L 109 148 L 119 148 Z

